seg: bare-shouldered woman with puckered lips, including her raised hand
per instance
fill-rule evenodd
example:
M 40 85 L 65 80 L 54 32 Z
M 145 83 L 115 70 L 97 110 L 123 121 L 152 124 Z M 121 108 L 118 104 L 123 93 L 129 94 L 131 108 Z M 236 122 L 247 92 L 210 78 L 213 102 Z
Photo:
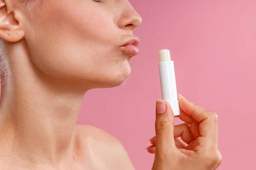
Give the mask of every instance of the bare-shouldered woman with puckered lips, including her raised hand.
M 129 77 L 140 23 L 128 0 L 0 0 L 1 170 L 134 169 L 117 139 L 76 119 L 86 91 Z M 216 169 L 216 114 L 179 100 L 190 125 L 157 100 L 152 169 Z

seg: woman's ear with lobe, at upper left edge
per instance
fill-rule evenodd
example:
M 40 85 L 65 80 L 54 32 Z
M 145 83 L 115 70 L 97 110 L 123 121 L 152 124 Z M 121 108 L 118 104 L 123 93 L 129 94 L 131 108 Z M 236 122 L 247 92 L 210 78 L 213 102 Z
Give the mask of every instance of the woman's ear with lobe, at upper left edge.
M 0 38 L 9 42 L 17 42 L 24 37 L 15 12 L 12 0 L 0 0 Z M 16 14 L 19 14 L 18 11 Z

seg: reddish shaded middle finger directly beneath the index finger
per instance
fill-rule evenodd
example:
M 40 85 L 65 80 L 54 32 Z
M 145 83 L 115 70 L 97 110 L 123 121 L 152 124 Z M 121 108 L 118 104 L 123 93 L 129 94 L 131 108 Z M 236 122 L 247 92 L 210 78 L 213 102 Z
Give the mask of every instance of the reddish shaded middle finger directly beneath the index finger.
M 186 113 L 184 113 L 184 111 L 182 109 L 180 109 L 180 116 L 179 116 L 179 118 L 183 122 L 185 122 L 185 123 L 190 125 L 191 133 L 195 137 L 200 136 L 199 123 L 197 121 L 195 121 L 195 119 L 193 119 L 192 116 L 187 115 Z

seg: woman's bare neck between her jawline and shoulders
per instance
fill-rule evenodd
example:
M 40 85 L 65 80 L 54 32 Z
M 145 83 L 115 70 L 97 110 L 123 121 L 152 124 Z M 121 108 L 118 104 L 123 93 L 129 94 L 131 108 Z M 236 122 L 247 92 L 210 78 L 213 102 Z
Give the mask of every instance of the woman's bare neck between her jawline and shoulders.
M 0 148 L 30 163 L 73 160 L 74 130 L 85 92 L 64 83 L 53 85 L 26 67 L 13 68 L 14 83 L 0 100 Z

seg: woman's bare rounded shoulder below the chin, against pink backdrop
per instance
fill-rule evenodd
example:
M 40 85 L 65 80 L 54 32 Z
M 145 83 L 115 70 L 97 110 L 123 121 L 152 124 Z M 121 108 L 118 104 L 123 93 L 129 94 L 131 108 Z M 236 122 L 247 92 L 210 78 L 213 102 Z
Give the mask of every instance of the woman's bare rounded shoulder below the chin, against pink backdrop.
M 90 153 L 105 162 L 110 169 L 134 170 L 131 160 L 122 143 L 105 130 L 93 126 L 76 125 L 76 138 Z M 108 164 L 108 165 L 107 165 Z

